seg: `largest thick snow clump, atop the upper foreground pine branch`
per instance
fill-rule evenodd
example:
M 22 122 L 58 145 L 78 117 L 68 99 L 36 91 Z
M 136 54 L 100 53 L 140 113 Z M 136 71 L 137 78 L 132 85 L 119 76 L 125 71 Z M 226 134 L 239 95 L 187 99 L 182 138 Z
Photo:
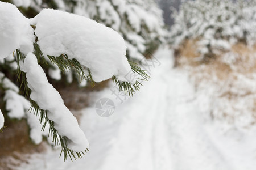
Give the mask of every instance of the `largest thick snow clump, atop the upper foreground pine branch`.
M 125 81 L 131 67 L 123 38 L 113 29 L 84 16 L 43 10 L 36 16 L 35 33 L 43 54 L 67 54 L 92 72 L 96 82 L 118 75 Z

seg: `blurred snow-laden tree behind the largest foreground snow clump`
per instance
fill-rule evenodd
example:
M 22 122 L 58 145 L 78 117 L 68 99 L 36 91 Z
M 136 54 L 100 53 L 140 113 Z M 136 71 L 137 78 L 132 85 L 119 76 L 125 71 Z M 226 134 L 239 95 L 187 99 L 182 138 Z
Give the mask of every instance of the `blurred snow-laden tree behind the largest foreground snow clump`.
M 127 57 L 141 60 L 164 41 L 162 10 L 154 0 L 13 0 L 25 13 L 55 8 L 86 16 L 119 32 L 125 39 Z M 30 7 L 30 8 L 28 8 Z

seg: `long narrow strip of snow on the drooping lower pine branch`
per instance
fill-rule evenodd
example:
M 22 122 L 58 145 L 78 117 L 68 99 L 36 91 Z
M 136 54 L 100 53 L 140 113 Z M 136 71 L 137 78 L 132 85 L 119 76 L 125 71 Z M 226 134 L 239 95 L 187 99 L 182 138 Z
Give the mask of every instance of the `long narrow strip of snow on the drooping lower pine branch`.
M 89 143 L 73 114 L 65 107 L 57 90 L 48 83 L 46 74 L 38 65 L 34 54 L 29 53 L 24 62 L 20 62 L 20 69 L 26 73 L 28 87 L 31 89 L 30 98 L 41 109 L 48 111 L 48 118 L 55 122 L 55 129 L 61 136 L 65 136 L 68 147 L 74 151 L 84 151 Z

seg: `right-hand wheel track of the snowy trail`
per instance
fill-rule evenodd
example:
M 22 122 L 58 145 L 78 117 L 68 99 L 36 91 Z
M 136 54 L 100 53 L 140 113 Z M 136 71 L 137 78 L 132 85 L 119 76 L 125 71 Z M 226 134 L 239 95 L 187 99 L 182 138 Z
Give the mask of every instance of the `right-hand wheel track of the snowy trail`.
M 167 137 L 172 137 L 170 143 L 171 152 L 174 153 L 174 169 L 230 169 L 221 151 L 217 150 L 205 132 L 204 121 L 197 111 L 195 94 L 188 77 L 175 71 L 173 74 L 173 85 L 170 88 L 177 95 L 170 94 L 172 104 L 169 109 L 172 112 L 166 125 L 170 125 L 168 129 L 171 133 Z

